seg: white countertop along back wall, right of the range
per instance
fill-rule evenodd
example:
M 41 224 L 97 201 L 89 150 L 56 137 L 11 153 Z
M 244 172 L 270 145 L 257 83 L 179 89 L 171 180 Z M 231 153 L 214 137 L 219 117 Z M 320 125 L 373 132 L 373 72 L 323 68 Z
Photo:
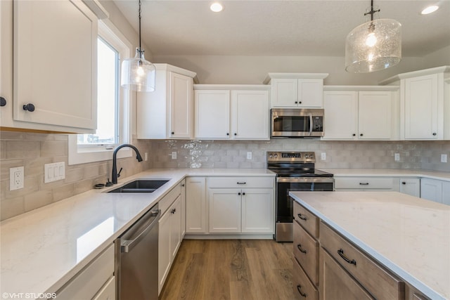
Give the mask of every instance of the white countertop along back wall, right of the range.
M 374 177 L 423 177 L 450 181 L 450 172 L 424 169 L 328 169 L 317 168 L 333 174 L 335 177 L 374 176 Z

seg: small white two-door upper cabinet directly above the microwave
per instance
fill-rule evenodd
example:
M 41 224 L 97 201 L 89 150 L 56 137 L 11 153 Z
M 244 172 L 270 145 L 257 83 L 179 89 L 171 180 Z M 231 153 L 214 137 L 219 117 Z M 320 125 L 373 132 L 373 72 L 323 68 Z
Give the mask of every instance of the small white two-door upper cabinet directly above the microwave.
M 269 73 L 271 107 L 323 107 L 323 79 L 328 74 Z

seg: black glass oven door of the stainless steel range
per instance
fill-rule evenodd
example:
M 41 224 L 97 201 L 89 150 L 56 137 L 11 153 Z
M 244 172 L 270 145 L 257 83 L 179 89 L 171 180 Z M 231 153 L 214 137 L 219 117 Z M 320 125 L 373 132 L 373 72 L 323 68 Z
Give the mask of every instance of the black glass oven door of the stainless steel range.
M 289 192 L 333 191 L 333 177 L 277 177 L 276 178 L 276 221 L 293 221 L 293 199 Z

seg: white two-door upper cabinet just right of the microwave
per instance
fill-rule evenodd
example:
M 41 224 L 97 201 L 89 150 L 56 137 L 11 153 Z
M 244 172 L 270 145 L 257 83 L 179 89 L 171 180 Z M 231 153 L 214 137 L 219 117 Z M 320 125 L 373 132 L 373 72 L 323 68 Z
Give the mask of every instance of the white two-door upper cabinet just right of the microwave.
M 396 139 L 397 89 L 395 86 L 326 86 L 323 140 Z

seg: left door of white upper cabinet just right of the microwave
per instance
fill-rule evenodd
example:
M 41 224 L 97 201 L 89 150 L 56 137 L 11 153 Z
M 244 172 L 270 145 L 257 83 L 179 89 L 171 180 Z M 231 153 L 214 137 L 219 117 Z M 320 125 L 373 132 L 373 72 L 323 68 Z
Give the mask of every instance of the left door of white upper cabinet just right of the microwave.
M 355 140 L 358 126 L 358 93 L 326 91 L 323 93 L 323 139 Z

